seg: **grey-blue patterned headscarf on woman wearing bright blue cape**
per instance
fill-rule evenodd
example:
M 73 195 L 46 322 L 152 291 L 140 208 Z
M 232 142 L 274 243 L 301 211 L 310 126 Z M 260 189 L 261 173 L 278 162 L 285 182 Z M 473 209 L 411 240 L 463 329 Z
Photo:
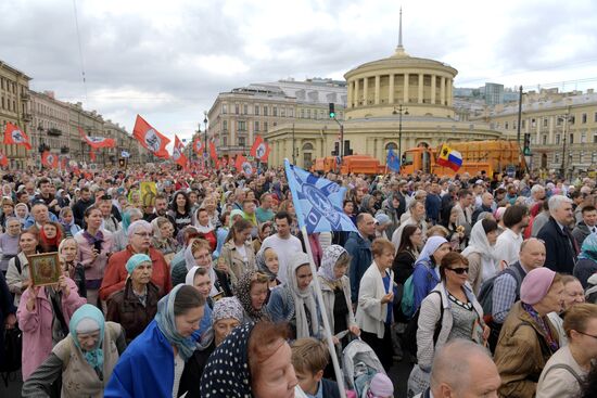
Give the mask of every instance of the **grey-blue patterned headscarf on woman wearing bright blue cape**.
M 187 362 L 187 359 L 193 355 L 196 343 L 191 337 L 183 337 L 176 330 L 176 319 L 174 316 L 174 301 L 180 287 L 187 286 L 185 284 L 176 285 L 172 292 L 162 297 L 157 303 L 157 313 L 155 314 L 155 322 L 157 328 L 164 334 L 166 339 L 178 348 L 180 357 Z M 194 288 L 194 287 L 191 287 Z

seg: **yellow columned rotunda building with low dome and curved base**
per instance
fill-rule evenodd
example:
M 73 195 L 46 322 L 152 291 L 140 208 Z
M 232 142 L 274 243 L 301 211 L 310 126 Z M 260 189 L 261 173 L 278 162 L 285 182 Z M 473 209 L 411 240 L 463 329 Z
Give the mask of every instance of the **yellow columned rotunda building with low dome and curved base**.
M 414 57 L 402 43 L 386 59 L 348 70 L 344 115 L 344 154 L 366 154 L 385 163 L 390 149 L 499 139 L 488 124 L 460 121 L 453 107 L 457 70 L 434 60 Z M 315 158 L 331 156 L 340 146 L 340 126 L 329 118 L 280 124 L 265 136 L 270 164 L 284 158 L 308 168 Z M 293 152 L 294 149 L 294 152 Z

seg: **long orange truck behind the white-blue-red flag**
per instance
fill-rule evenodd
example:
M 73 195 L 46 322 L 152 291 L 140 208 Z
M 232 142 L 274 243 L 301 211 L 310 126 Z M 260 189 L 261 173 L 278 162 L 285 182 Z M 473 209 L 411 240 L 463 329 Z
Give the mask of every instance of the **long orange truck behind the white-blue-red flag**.
M 462 166 L 458 171 L 436 164 L 439 147 L 417 146 L 406 150 L 403 154 L 401 175 L 415 171 L 431 172 L 437 176 L 454 176 L 468 172 L 475 175 L 485 171 L 487 176 L 494 172 L 523 172 L 526 168 L 524 156 L 520 153 L 516 141 L 468 141 L 446 143 L 450 149 L 460 152 Z

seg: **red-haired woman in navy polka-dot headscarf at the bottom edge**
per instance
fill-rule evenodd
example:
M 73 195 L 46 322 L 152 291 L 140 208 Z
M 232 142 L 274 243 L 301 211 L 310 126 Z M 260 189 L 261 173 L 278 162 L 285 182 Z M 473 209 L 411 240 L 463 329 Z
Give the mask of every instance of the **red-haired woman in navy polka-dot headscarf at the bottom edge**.
M 201 396 L 300 397 L 288 337 L 283 324 L 258 322 L 234 329 L 207 360 Z

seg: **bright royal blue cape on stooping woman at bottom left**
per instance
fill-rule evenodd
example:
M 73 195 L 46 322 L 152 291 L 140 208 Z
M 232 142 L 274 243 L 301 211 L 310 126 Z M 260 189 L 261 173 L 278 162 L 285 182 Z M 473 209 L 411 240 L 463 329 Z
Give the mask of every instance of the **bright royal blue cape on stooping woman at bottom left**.
M 153 320 L 120 356 L 104 397 L 172 397 L 173 388 L 174 350 Z

